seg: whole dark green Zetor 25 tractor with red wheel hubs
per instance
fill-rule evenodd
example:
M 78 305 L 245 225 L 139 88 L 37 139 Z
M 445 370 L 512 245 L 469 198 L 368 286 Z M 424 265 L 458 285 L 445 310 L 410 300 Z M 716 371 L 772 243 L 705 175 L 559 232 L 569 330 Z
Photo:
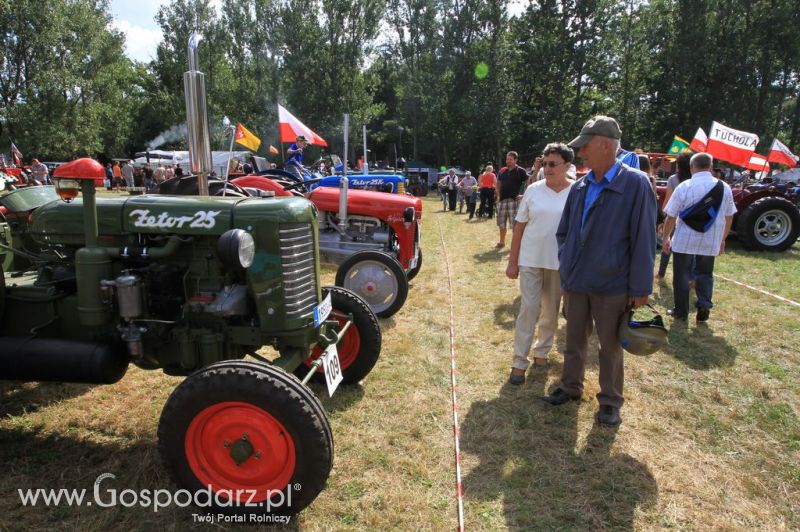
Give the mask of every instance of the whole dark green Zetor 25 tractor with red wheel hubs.
M 194 156 L 207 128 L 189 92 L 190 125 L 202 126 Z M 333 393 L 358 382 L 381 349 L 366 303 L 320 286 L 316 209 L 303 198 L 96 197 L 103 175 L 78 159 L 54 172 L 55 187 L 0 198 L 0 379 L 111 384 L 131 363 L 185 375 L 158 427 L 176 483 L 210 491 L 223 511 L 301 511 L 333 461 L 306 383 Z

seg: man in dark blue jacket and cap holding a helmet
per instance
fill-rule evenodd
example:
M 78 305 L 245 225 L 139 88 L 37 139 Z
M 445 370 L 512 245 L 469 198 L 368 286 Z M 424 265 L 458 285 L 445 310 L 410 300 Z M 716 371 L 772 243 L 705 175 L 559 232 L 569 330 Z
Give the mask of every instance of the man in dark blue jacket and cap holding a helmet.
M 566 348 L 561 384 L 543 398 L 553 405 L 580 399 L 594 324 L 604 425 L 619 424 L 624 400 L 620 319 L 629 306 L 647 304 L 653 289 L 656 199 L 645 173 L 616 160 L 621 137 L 616 120 L 596 116 L 569 143 L 591 171 L 573 185 L 556 232 Z

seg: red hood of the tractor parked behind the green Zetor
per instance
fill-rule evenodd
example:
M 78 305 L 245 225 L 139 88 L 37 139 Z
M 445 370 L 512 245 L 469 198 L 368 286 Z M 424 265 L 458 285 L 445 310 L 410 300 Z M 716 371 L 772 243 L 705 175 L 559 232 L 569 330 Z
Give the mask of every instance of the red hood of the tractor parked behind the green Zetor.
M 339 189 L 319 187 L 311 193 L 310 199 L 321 211 L 337 212 L 339 210 Z M 399 217 L 407 207 L 414 207 L 417 219 L 422 217 L 422 200 L 413 196 L 400 196 L 386 192 L 371 190 L 348 190 L 347 211 L 350 214 L 374 216 L 382 220 Z

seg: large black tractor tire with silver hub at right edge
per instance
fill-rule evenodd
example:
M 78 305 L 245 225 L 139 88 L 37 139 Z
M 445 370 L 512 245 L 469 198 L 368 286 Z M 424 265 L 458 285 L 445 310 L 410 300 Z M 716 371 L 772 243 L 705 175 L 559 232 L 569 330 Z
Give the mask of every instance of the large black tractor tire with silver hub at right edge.
M 736 222 L 736 235 L 747 249 L 785 251 L 794 245 L 798 234 L 800 209 L 777 196 L 754 201 Z

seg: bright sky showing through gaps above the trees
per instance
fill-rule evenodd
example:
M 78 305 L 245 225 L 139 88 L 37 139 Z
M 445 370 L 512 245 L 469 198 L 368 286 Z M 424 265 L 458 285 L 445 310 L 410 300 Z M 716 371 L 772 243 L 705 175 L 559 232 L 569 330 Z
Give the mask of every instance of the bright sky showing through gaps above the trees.
M 155 17 L 158 8 L 165 3 L 164 0 L 111 0 L 112 25 L 125 34 L 125 49 L 131 59 L 147 62 L 155 58 L 161 41 L 161 29 Z M 221 3 L 221 0 L 212 2 L 217 6 Z M 521 13 L 525 4 L 525 0 L 511 0 L 509 13 Z

